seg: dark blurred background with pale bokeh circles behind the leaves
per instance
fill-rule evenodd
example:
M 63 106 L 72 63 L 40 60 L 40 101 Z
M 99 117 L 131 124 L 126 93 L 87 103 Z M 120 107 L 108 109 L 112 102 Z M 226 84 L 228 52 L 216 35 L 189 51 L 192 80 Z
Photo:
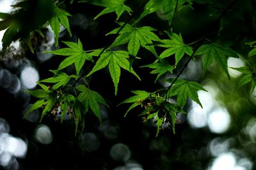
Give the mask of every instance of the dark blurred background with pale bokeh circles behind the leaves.
M 134 0 L 125 4 L 136 11 L 143 2 Z M 0 12 L 12 13 L 9 7 L 13 3 L 15 1 L 0 0 Z M 103 8 L 76 1 L 58 3 L 72 15 L 69 17 L 72 37 L 66 29 L 61 29 L 59 42 L 77 42 L 79 38 L 86 49 L 97 49 L 113 40 L 113 36 L 105 35 L 118 26 L 114 22 L 114 13 L 93 20 Z M 230 4 L 225 17 L 216 22 L 219 13 Z M 181 33 L 186 43 L 204 36 L 214 42 L 218 36 L 218 40 L 226 45 L 236 47 L 234 50 L 239 58 L 228 58 L 230 67 L 247 65 L 246 61 L 255 63 L 255 56 L 247 56 L 250 46 L 244 45 L 256 40 L 255 8 L 254 0 L 186 1 L 173 15 L 173 31 Z M 19 13 L 19 19 L 13 21 L 21 28 L 19 37 L 26 37 L 32 29 L 44 25 L 51 16 L 51 10 L 48 10 L 40 4 L 36 8 L 29 6 L 29 13 Z M 120 20 L 128 18 L 129 14 L 125 13 Z M 139 24 L 156 28 L 156 34 L 162 39 L 166 38 L 163 31 L 170 29 L 161 9 L 147 15 Z M 49 70 L 56 69 L 61 62 L 61 58 L 42 51 L 58 49 L 63 43 L 58 47 L 54 45 L 54 36 L 47 26 L 42 33 L 44 37 L 38 32 L 31 35 L 34 54 L 23 43 L 12 43 L 1 54 L 0 169 L 255 169 L 256 90 L 250 91 L 250 84 L 237 89 L 242 73 L 228 69 L 229 81 L 216 64 L 212 64 L 202 77 L 200 57 L 188 64 L 181 78 L 198 81 L 207 89 L 208 92 L 198 92 L 204 109 L 195 102 L 188 102 L 188 115 L 178 115 L 180 123 L 176 125 L 176 134 L 164 128 L 155 137 L 154 123 L 143 123 L 138 117 L 140 108 L 124 118 L 126 108 L 116 107 L 131 96 L 131 90 L 155 91 L 167 86 L 161 80 L 155 84 L 155 77 L 149 70 L 140 68 L 154 62 L 152 54 L 143 49 L 138 54 L 143 59 L 132 64 L 141 81 L 122 72 L 116 97 L 106 70 L 95 73 L 95 78 L 89 80 L 95 91 L 111 101 L 110 109 L 101 107 L 101 126 L 93 115 L 88 114 L 84 132 L 75 137 L 74 121 L 68 118 L 60 123 L 53 116 L 46 116 L 38 123 L 38 111 L 22 118 L 22 112 L 35 100 L 23 90 L 35 88 L 35 81 L 49 77 Z M 3 36 L 3 31 L 0 35 Z M 159 51 L 161 49 L 157 49 Z M 177 66 L 177 73 L 186 59 L 183 58 Z M 67 72 L 74 69 L 68 68 Z M 176 75 L 166 74 L 163 79 Z

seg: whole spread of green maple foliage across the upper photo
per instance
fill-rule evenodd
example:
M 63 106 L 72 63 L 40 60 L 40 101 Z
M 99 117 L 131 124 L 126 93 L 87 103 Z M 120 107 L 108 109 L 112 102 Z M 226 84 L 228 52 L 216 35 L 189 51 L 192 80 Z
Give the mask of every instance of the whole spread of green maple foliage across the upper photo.
M 92 91 L 89 88 L 90 82 L 87 82 L 85 79 L 81 81 L 81 79 L 84 78 L 84 76 L 92 76 L 93 79 L 95 72 L 108 67 L 114 84 L 115 95 L 117 95 L 121 68 L 132 73 L 140 80 L 140 77 L 134 72 L 133 68 L 136 67 L 139 69 L 147 67 L 152 69 L 150 73 L 156 74 L 156 85 L 158 85 L 157 80 L 163 75 L 172 74 L 174 72 L 177 73 L 177 77 L 165 80 L 171 84 L 165 88 L 159 88 L 152 93 L 145 91 L 145 89 L 132 91 L 134 95 L 120 103 L 131 104 L 124 115 L 126 116 L 132 109 L 140 106 L 137 110 L 140 112 L 139 115 L 143 117 L 143 120 L 153 120 L 156 124 L 156 135 L 158 135 L 163 128 L 164 123 L 168 123 L 168 127 L 172 128 L 173 133 L 175 133 L 177 114 L 185 113 L 182 109 L 184 109 L 188 98 L 202 107 L 197 91 L 206 91 L 204 87 L 198 82 L 187 81 L 180 78 L 181 73 L 185 70 L 186 66 L 188 66 L 189 61 L 195 59 L 195 56 L 203 56 L 203 75 L 205 75 L 206 70 L 212 65 L 213 61 L 216 61 L 216 65 L 218 65 L 225 72 L 228 79 L 230 79 L 227 58 L 238 58 L 237 53 L 239 53 L 239 57 L 241 57 L 248 66 L 233 68 L 244 73 L 243 77 L 238 81 L 237 88 L 251 82 L 251 91 L 255 89 L 256 70 L 252 56 L 256 55 L 256 41 L 246 43 L 246 45 L 250 45 L 251 49 L 248 50 L 248 47 L 246 52 L 244 52 L 246 53 L 245 55 L 243 52 L 239 51 L 245 49 L 244 47 L 241 47 L 239 50 L 237 49 L 237 52 L 233 50 L 255 37 L 248 36 L 244 39 L 241 38 L 241 40 L 237 38 L 237 35 L 241 35 L 241 33 L 244 33 L 243 31 L 247 30 L 243 26 L 236 28 L 237 30 L 239 29 L 237 32 L 232 30 L 234 31 L 232 36 L 225 35 L 225 31 L 230 31 L 230 28 L 234 27 L 234 25 L 237 26 L 237 23 L 243 20 L 244 14 L 242 15 L 241 13 L 245 13 L 246 10 L 253 10 L 253 8 L 249 8 L 250 5 L 248 4 L 250 3 L 248 2 L 246 3 L 246 10 L 239 6 L 239 10 L 237 11 L 238 4 L 236 4 L 236 2 L 228 4 L 223 1 L 216 3 L 216 1 L 213 0 L 149 0 L 145 1 L 143 3 L 144 6 L 138 8 L 139 10 L 135 11 L 134 15 L 129 17 L 126 22 L 122 19 L 125 19 L 127 16 L 122 17 L 122 15 L 126 12 L 131 14 L 134 9 L 126 6 L 124 4 L 125 0 L 88 0 L 79 1 L 79 3 L 91 3 L 96 6 L 104 7 L 104 10 L 102 10 L 95 19 L 106 13 L 115 12 L 117 15 L 116 20 L 120 20 L 120 22 L 117 22 L 120 27 L 113 29 L 113 31 L 107 34 L 113 35 L 112 37 L 115 39 L 102 49 L 85 51 L 83 44 L 78 39 L 77 43 L 63 42 L 67 45 L 66 48 L 46 52 L 58 56 L 66 56 L 66 58 L 60 62 L 58 70 L 51 70 L 51 72 L 54 73 L 53 77 L 38 82 L 38 86 L 40 86 L 41 89 L 28 91 L 31 96 L 38 98 L 38 100 L 31 105 L 26 114 L 35 109 L 40 109 L 42 110 L 41 120 L 47 113 L 55 116 L 56 113 L 58 113 L 61 114 L 61 121 L 65 120 L 68 114 L 70 118 L 73 118 L 75 121 L 76 133 L 80 129 L 83 131 L 86 113 L 93 112 L 101 123 L 100 104 L 106 106 L 108 106 L 108 104 L 97 91 Z M 65 1 L 19 1 L 14 4 L 15 11 L 12 13 L 0 13 L 0 19 L 2 19 L 0 21 L 0 30 L 6 29 L 2 40 L 3 50 L 6 50 L 12 41 L 20 40 L 21 42 L 25 42 L 33 52 L 34 47 L 31 43 L 33 33 L 34 31 L 38 31 L 38 33 L 42 35 L 40 29 L 47 24 L 51 26 L 54 32 L 55 45 L 58 45 L 61 25 L 67 29 L 68 34 L 71 36 L 72 27 L 70 28 L 68 22 L 71 15 L 66 11 L 67 9 L 65 9 L 67 6 L 63 4 L 67 5 Z M 76 1 L 68 1 L 68 4 L 73 7 Z M 208 7 L 205 8 L 205 6 Z M 236 6 L 236 8 L 234 8 L 234 6 Z M 99 10 L 101 7 L 99 7 Z M 198 9 L 200 9 L 200 11 Z M 234 13 L 236 11 L 237 13 Z M 145 24 L 147 22 L 142 22 L 143 19 L 146 20 L 147 17 L 149 18 L 151 15 L 156 15 L 154 13 L 156 13 L 160 19 L 163 19 L 163 23 L 154 24 L 154 27 L 157 27 L 157 29 L 152 27 L 152 23 L 147 25 Z M 211 22 L 202 22 L 202 24 L 198 22 L 198 20 L 201 19 L 209 19 L 209 17 L 202 17 L 209 15 L 212 17 Z M 230 16 L 235 16 L 234 20 L 230 20 Z M 246 22 L 256 20 L 254 15 L 250 17 L 252 18 L 246 20 Z M 188 20 L 189 22 L 187 22 Z M 214 22 L 212 22 L 212 20 L 214 20 Z M 232 25 L 227 21 L 230 21 L 230 23 L 234 22 L 235 24 L 233 23 Z M 186 22 L 186 24 L 183 22 Z M 180 23 L 181 26 L 175 26 Z M 214 26 L 211 25 L 212 23 L 214 23 Z M 197 29 L 193 30 L 193 27 L 188 28 L 189 24 L 195 24 Z M 243 23 L 241 25 L 243 25 Z M 179 29 L 180 27 L 184 27 L 184 29 Z M 204 28 L 211 28 L 211 30 L 205 31 Z M 255 24 L 252 23 L 252 30 L 254 30 L 254 28 Z M 205 33 L 201 33 L 202 30 L 204 30 Z M 198 36 L 196 35 L 198 32 L 200 32 L 200 38 L 197 37 L 196 39 L 194 36 Z M 168 38 L 162 39 L 165 36 L 164 33 L 168 35 Z M 244 33 L 244 35 L 246 34 Z M 187 40 L 194 42 L 187 44 L 185 43 Z M 204 40 L 215 43 L 205 43 Z M 140 52 L 141 47 L 147 49 L 154 54 L 154 56 Z M 172 56 L 174 57 L 172 58 Z M 188 56 L 189 58 L 185 65 L 181 66 L 181 71 L 179 72 L 176 68 L 179 65 L 180 59 L 184 58 L 184 56 Z M 140 58 L 140 61 L 133 62 L 136 58 Z M 155 62 L 152 63 L 152 61 Z M 150 64 L 145 65 L 145 63 Z M 64 68 L 73 64 L 76 68 L 76 72 L 67 73 L 67 69 Z M 46 86 L 45 84 L 51 86 Z M 79 85 L 77 86 L 77 84 Z M 169 102 L 171 97 L 176 97 L 177 104 L 176 102 Z M 135 110 L 136 109 L 132 111 Z

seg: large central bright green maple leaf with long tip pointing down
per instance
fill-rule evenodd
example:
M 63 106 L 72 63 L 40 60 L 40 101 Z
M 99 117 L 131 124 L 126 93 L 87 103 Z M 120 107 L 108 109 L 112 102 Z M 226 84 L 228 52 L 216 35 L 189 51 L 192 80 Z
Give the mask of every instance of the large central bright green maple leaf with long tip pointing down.
M 117 89 L 118 89 L 118 82 L 121 74 L 120 67 L 132 73 L 140 80 L 140 77 L 134 72 L 127 58 L 129 58 L 129 53 L 124 50 L 117 50 L 117 51 L 105 50 L 101 54 L 100 58 L 98 59 L 95 66 L 93 67 L 92 71 L 88 73 L 87 77 L 92 75 L 92 73 L 97 72 L 98 70 L 109 65 L 108 69 L 115 86 L 115 95 L 116 95 Z

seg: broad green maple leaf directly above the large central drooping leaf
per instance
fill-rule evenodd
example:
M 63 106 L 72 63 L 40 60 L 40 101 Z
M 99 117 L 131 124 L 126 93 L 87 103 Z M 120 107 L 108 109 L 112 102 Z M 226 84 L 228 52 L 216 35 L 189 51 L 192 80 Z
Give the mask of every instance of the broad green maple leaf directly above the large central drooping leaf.
M 120 26 L 123 26 L 122 23 L 118 23 Z M 109 32 L 107 35 L 116 34 L 120 27 L 114 29 Z M 152 52 L 155 56 L 157 56 L 156 50 L 154 49 L 152 41 L 160 41 L 157 35 L 152 33 L 152 31 L 157 31 L 152 27 L 133 27 L 130 24 L 126 24 L 124 29 L 120 31 L 120 35 L 116 37 L 115 42 L 112 43 L 111 47 L 116 47 L 118 45 L 123 45 L 128 43 L 128 52 L 132 56 L 136 56 L 140 49 L 140 46 Z

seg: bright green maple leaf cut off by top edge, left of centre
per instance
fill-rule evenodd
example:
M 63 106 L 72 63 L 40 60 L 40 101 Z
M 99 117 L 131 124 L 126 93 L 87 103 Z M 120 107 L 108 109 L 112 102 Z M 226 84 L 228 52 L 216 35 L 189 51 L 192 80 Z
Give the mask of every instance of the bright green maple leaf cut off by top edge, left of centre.
M 126 6 L 124 4 L 126 0 L 99 0 L 99 1 L 79 1 L 79 3 L 92 3 L 98 6 L 104 6 L 106 7 L 102 12 L 100 12 L 94 19 L 99 18 L 101 15 L 104 15 L 106 13 L 115 12 L 117 15 L 116 20 L 119 19 L 119 17 L 127 11 L 128 13 L 132 12 L 131 8 L 129 6 Z

